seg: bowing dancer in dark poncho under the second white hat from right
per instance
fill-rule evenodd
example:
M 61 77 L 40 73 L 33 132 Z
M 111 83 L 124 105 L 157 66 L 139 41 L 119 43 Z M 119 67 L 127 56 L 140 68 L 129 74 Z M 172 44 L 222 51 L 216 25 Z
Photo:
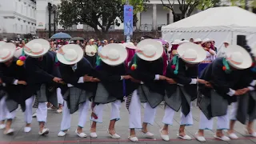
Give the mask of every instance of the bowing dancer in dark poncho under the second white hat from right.
M 160 130 L 161 137 L 169 141 L 168 126 L 173 124 L 174 114 L 182 107 L 182 117 L 178 138 L 190 140 L 185 133 L 185 126 L 193 125 L 190 103 L 197 98 L 197 84 L 204 82 L 198 78 L 198 63 L 206 58 L 205 50 L 194 43 L 178 46 L 178 56 L 174 57 L 166 70 L 165 124 Z M 178 84 L 177 84 L 178 83 Z

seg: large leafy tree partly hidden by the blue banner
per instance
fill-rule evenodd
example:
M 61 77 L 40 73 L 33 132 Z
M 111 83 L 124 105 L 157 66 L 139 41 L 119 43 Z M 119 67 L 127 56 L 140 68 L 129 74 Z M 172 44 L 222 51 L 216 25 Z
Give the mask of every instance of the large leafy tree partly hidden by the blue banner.
M 134 11 L 144 10 L 148 0 L 130 0 Z M 86 24 L 91 26 L 98 38 L 105 38 L 112 25 L 123 22 L 123 0 L 62 0 L 59 6 L 59 22 L 64 27 Z M 98 29 L 100 27 L 101 30 Z

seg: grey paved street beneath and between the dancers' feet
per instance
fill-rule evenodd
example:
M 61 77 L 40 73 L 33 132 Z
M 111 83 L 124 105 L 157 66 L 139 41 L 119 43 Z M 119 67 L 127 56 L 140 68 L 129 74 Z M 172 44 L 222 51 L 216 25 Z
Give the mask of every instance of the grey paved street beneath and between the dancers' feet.
M 127 139 L 129 136 L 129 130 L 128 130 L 128 113 L 125 109 L 124 104 L 122 104 L 122 110 L 121 110 L 121 120 L 117 122 L 116 125 L 116 131 L 119 135 L 121 135 L 122 139 L 114 140 L 108 137 L 106 130 L 109 124 L 109 118 L 110 118 L 110 105 L 106 106 L 105 114 L 104 114 L 104 123 L 98 124 L 98 138 L 90 138 L 88 135 L 90 134 L 90 121 L 89 117 L 87 117 L 88 121 L 86 123 L 84 131 L 87 134 L 87 138 L 78 138 L 76 134 L 74 134 L 74 130 L 76 129 L 76 124 L 78 122 L 78 113 L 73 114 L 72 119 L 72 127 L 70 128 L 70 131 L 68 134 L 66 134 L 66 137 L 58 137 L 58 130 L 60 129 L 60 123 L 62 120 L 62 114 L 56 114 L 54 110 L 50 110 L 48 112 L 48 123 L 47 127 L 50 129 L 50 134 L 47 136 L 39 136 L 38 135 L 38 122 L 36 122 L 36 118 L 33 119 L 32 123 L 32 131 L 29 134 L 25 134 L 23 132 L 23 114 L 21 110 L 18 111 L 17 118 L 14 120 L 13 128 L 15 131 L 13 136 L 6 136 L 4 134 L 0 134 L 0 144 L 7 144 L 7 143 L 17 143 L 17 144 L 34 144 L 34 143 L 93 143 L 93 144 L 104 144 L 104 143 L 111 143 L 111 144 L 118 144 L 118 143 L 133 143 L 129 142 Z M 142 106 L 142 112 L 143 112 L 143 106 Z M 177 113 L 175 115 L 175 122 L 174 126 L 170 126 L 170 142 L 163 142 L 160 138 L 159 129 L 162 127 L 162 117 L 163 117 L 164 111 L 163 111 L 163 105 L 158 107 L 158 113 L 155 118 L 154 126 L 150 126 L 150 131 L 155 134 L 155 139 L 145 139 L 142 138 L 142 134 L 138 131 L 138 138 L 139 142 L 141 144 L 167 144 L 167 143 L 186 143 L 186 144 L 198 144 L 197 140 L 193 139 L 192 141 L 183 141 L 181 139 L 178 139 L 176 137 L 176 134 L 178 132 L 178 126 L 179 126 L 179 116 L 180 113 Z M 186 133 L 189 134 L 192 138 L 194 138 L 194 133 L 198 130 L 198 120 L 199 120 L 199 110 L 198 108 L 193 108 L 193 114 L 194 114 L 194 126 L 186 127 Z M 143 114 L 142 114 L 143 115 Z M 239 144 L 239 143 L 246 143 L 246 144 L 253 144 L 256 143 L 256 138 L 247 138 L 245 137 L 244 133 L 244 126 L 242 126 L 240 123 L 237 123 L 235 127 L 236 133 L 239 136 L 238 140 L 230 141 L 230 142 L 221 142 L 216 139 L 214 139 L 213 131 L 206 131 L 206 143 L 218 143 L 218 144 L 224 144 L 224 143 L 232 143 L 232 144 Z

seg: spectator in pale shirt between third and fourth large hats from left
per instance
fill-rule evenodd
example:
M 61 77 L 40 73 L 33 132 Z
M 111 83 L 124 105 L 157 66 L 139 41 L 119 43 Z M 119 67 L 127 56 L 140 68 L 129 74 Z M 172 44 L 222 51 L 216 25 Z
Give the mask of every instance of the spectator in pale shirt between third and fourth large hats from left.
M 96 65 L 98 47 L 94 45 L 94 39 L 89 40 L 89 45 L 86 46 L 85 58 L 90 62 L 91 66 Z

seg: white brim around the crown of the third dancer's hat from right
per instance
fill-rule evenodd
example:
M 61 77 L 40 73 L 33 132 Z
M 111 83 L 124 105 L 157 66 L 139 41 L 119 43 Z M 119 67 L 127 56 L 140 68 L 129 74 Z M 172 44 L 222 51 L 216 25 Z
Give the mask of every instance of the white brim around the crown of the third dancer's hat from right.
M 154 39 L 145 39 L 141 42 L 138 42 L 137 49 L 142 50 L 142 48 L 146 47 L 146 46 L 154 46 L 156 48 L 156 54 L 154 54 L 154 57 L 148 58 L 148 57 L 144 56 L 143 54 L 136 53 L 138 55 L 138 58 L 141 58 L 145 61 L 155 61 L 158 58 L 162 57 L 163 47 L 160 42 L 158 42 L 157 40 L 154 40 Z

